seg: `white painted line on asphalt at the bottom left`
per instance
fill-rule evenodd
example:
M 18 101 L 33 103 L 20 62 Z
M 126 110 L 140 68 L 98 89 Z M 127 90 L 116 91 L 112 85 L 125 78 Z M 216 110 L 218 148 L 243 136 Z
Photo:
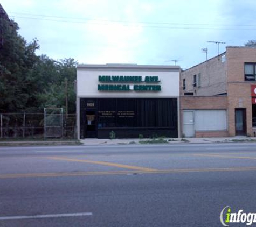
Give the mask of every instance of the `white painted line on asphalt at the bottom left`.
M 73 214 L 52 214 L 52 215 L 32 215 L 32 216 L 8 216 L 0 217 L 0 221 L 17 220 L 17 219 L 31 219 L 31 218 L 51 218 L 51 217 L 77 217 L 77 216 L 91 216 L 92 213 L 73 213 Z

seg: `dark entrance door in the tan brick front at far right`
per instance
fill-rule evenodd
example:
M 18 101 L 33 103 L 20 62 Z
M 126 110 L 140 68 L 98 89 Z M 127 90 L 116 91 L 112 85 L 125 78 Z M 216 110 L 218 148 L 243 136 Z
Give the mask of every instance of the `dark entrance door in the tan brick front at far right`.
M 236 116 L 236 136 L 246 136 L 246 109 L 235 110 Z

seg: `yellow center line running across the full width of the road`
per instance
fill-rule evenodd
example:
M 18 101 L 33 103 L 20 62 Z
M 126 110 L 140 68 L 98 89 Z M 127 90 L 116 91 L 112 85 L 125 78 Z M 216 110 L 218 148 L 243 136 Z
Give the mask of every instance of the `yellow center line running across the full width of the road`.
M 127 174 L 168 174 L 168 173 L 196 173 L 196 172 L 234 172 L 234 171 L 256 171 L 256 167 L 234 167 L 234 168 L 202 168 L 202 169 L 165 169 L 156 171 L 106 171 L 106 172 L 66 172 L 66 173 L 15 173 L 0 174 L 0 179 L 9 178 L 47 178 L 58 176 L 90 176 L 90 175 L 127 175 Z

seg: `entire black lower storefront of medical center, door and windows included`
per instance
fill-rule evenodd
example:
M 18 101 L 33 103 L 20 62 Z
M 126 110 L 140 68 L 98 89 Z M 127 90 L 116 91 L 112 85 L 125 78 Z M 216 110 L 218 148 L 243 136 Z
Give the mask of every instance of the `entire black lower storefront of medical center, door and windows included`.
M 81 138 L 178 136 L 177 98 L 81 98 Z

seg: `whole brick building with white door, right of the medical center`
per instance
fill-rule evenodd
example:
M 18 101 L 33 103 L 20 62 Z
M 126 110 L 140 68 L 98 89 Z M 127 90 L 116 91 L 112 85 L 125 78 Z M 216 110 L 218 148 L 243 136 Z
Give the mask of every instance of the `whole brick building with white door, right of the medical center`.
M 256 48 L 226 52 L 181 73 L 184 136 L 255 136 Z

